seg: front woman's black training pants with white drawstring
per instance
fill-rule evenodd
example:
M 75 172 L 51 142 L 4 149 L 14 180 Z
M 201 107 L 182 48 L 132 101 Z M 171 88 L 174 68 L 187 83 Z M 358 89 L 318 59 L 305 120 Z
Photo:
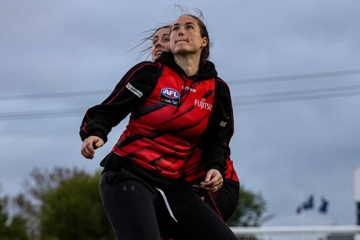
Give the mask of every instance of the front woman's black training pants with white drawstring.
M 191 187 L 163 192 L 177 222 L 161 194 L 133 173 L 122 169 L 102 174 L 101 200 L 117 239 L 158 240 L 161 231 L 175 240 L 237 240 Z

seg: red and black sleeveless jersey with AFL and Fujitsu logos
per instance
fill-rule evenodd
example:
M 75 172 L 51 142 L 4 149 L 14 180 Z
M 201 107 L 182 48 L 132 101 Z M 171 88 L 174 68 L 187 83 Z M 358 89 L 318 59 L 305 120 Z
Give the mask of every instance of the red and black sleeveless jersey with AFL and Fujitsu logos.
M 215 79 L 196 81 L 167 66 L 151 94 L 131 112 L 112 151 L 168 178 L 179 178 L 214 105 Z

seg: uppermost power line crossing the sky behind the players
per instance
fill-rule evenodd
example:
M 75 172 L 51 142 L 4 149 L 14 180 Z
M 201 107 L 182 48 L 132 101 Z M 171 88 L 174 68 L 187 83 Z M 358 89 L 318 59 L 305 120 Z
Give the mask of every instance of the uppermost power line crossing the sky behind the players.
M 268 83 L 268 82 L 280 82 L 280 81 L 289 81 L 289 80 L 302 80 L 302 79 L 311 79 L 311 78 L 326 78 L 326 77 L 346 76 L 346 75 L 356 75 L 356 74 L 360 74 L 360 69 L 312 73 L 312 74 L 287 75 L 287 76 L 277 76 L 277 77 L 249 78 L 249 79 L 240 79 L 240 80 L 230 80 L 226 82 L 229 85 L 237 85 L 237 84 L 253 84 L 253 83 Z M 85 90 L 85 91 L 73 91 L 73 92 L 8 95 L 8 96 L 0 96 L 0 101 L 21 100 L 21 99 L 82 97 L 82 96 L 104 95 L 110 93 L 110 91 L 111 90 Z

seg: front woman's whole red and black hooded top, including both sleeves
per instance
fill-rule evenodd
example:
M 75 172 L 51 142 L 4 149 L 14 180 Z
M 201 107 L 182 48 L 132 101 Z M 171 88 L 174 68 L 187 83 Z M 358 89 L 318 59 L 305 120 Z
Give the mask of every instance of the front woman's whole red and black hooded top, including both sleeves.
M 166 84 L 171 87 L 167 88 Z M 196 99 L 199 96 L 193 95 L 200 94 L 202 86 L 208 94 L 200 101 Z M 201 119 L 194 115 L 197 107 L 201 112 L 208 110 L 203 115 L 199 111 Z M 194 76 L 185 74 L 174 62 L 171 52 L 163 52 L 155 63 L 137 64 L 105 101 L 87 110 L 80 128 L 81 139 L 98 136 L 106 142 L 111 128 L 129 113 L 127 129 L 100 163 L 105 170 L 124 168 L 160 187 L 185 184 L 182 166 L 199 147 L 205 170 L 215 168 L 224 172 L 233 134 L 232 107 L 229 89 L 217 77 L 211 62 L 207 61 Z M 187 114 L 192 115 L 184 118 Z M 183 122 L 175 122 L 180 117 Z M 197 131 L 201 131 L 199 136 Z M 144 159 L 150 158 L 149 155 L 154 155 L 153 159 Z M 168 169 L 176 171 L 167 172 Z

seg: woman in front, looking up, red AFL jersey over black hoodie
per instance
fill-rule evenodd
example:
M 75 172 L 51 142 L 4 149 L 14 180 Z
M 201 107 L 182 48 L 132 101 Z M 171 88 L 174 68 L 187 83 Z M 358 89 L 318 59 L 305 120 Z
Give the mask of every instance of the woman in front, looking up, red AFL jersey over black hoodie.
M 171 52 L 130 69 L 84 116 L 81 153 L 92 159 L 129 113 L 126 130 L 101 161 L 100 194 L 118 239 L 237 239 L 192 190 L 183 168 L 195 149 L 201 188 L 223 184 L 233 134 L 230 92 L 207 61 L 206 27 L 193 15 L 171 27 Z

